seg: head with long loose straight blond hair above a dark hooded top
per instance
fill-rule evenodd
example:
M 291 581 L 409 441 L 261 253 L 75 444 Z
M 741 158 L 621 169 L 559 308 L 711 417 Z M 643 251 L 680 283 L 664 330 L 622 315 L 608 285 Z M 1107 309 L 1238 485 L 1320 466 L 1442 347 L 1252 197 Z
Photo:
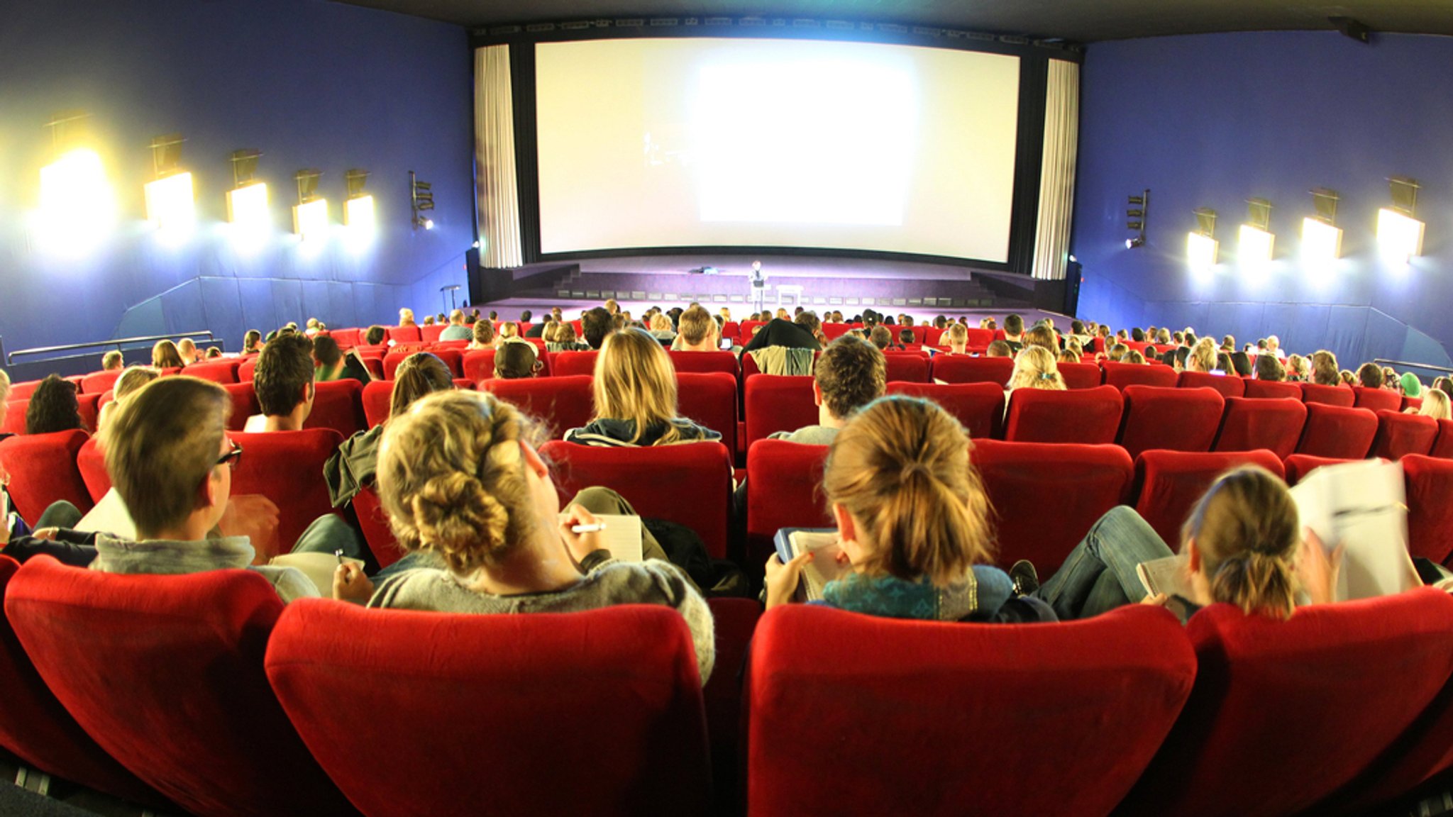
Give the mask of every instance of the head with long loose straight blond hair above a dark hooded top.
M 661 343 L 639 329 L 606 336 L 596 358 L 596 419 L 631 420 L 635 438 L 665 423 L 657 445 L 680 439 L 676 419 L 676 368 Z

